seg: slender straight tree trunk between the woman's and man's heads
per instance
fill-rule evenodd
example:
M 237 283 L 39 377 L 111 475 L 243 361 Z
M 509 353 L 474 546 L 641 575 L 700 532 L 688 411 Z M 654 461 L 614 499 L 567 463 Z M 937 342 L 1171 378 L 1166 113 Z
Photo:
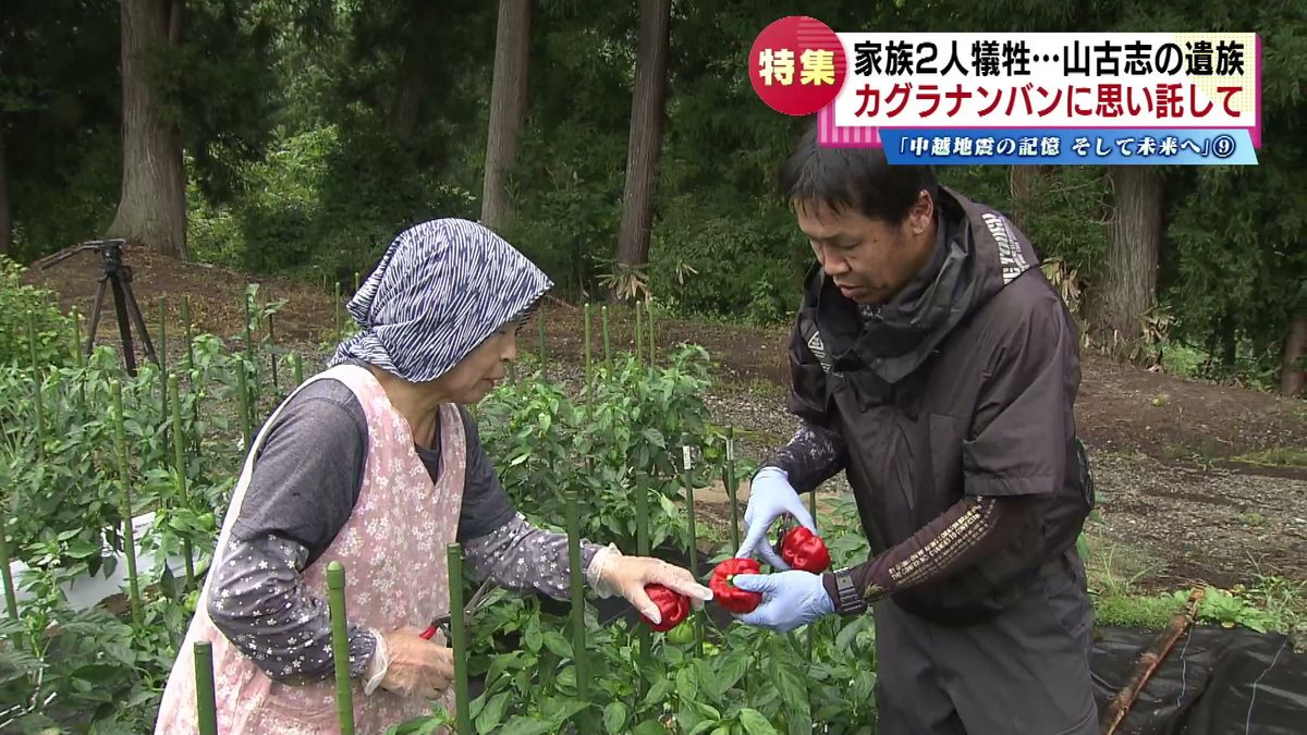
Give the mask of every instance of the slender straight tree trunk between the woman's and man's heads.
M 657 182 L 659 156 L 663 150 L 670 25 L 670 0 L 640 0 L 631 137 L 626 153 L 626 207 L 622 211 L 622 230 L 617 241 L 620 265 L 643 265 L 648 262 L 650 230 L 654 225 L 654 186 Z

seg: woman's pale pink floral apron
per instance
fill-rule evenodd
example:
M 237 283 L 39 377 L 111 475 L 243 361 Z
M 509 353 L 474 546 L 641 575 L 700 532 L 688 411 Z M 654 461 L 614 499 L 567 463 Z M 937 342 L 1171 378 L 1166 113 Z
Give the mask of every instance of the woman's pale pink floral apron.
M 371 371 L 340 365 L 305 385 L 322 378 L 341 381 L 358 398 L 367 419 L 369 446 L 363 488 L 354 511 L 331 547 L 305 570 L 306 586 L 325 599 L 327 565 L 340 561 L 345 565 L 345 607 L 352 624 L 382 632 L 404 625 L 425 629 L 450 604 L 446 547 L 456 539 L 467 462 L 467 439 L 457 407 L 440 407 L 440 477 L 433 484 L 413 449 L 408 421 L 391 405 Z M 231 523 L 250 484 L 254 456 L 282 407 L 264 424 L 246 458 L 218 536 L 217 553 L 227 545 Z M 306 447 L 306 451 L 312 449 Z M 156 734 L 196 731 L 193 646 L 201 640 L 213 645 L 220 732 L 340 732 L 335 679 L 328 676 L 311 684 L 273 681 L 214 628 L 205 612 L 209 595 L 209 582 L 205 582 L 163 692 Z M 433 641 L 446 645 L 440 633 Z M 358 679 L 353 680 L 353 692 L 354 723 L 359 734 L 384 732 L 392 725 L 431 713 L 431 702 L 422 697 L 403 697 L 380 688 L 365 694 Z M 440 704 L 454 711 L 452 688 Z

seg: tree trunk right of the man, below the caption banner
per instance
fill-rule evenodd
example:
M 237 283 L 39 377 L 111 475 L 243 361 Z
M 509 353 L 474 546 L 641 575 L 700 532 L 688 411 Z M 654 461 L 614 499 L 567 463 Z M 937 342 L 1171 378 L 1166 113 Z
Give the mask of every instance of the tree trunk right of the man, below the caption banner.
M 1155 166 L 1108 166 L 1115 216 L 1107 235 L 1107 263 L 1087 294 L 1091 324 L 1108 341 L 1140 335 L 1142 316 L 1157 298 L 1157 259 L 1162 243 L 1162 175 Z

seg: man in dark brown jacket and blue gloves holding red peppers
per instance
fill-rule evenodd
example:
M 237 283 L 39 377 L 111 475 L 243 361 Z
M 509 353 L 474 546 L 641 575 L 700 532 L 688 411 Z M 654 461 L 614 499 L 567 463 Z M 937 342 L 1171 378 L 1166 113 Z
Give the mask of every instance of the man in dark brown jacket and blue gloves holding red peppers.
M 872 609 L 884 735 L 1094 732 L 1080 354 L 1034 248 L 929 167 L 816 131 L 782 186 L 817 264 L 789 343 L 801 424 L 754 477 L 738 552 L 780 572 L 736 578 L 763 594 L 741 620 Z M 816 531 L 799 493 L 839 471 L 870 557 L 787 570 L 772 522 Z

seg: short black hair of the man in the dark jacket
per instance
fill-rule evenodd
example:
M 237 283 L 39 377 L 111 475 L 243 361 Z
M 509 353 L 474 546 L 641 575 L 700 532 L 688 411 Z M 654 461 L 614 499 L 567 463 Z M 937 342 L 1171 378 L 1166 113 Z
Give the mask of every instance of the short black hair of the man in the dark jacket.
M 813 124 L 780 170 L 780 194 L 800 204 L 856 207 L 872 220 L 899 224 L 921 190 L 936 197 L 931 166 L 890 165 L 880 148 L 822 148 Z

